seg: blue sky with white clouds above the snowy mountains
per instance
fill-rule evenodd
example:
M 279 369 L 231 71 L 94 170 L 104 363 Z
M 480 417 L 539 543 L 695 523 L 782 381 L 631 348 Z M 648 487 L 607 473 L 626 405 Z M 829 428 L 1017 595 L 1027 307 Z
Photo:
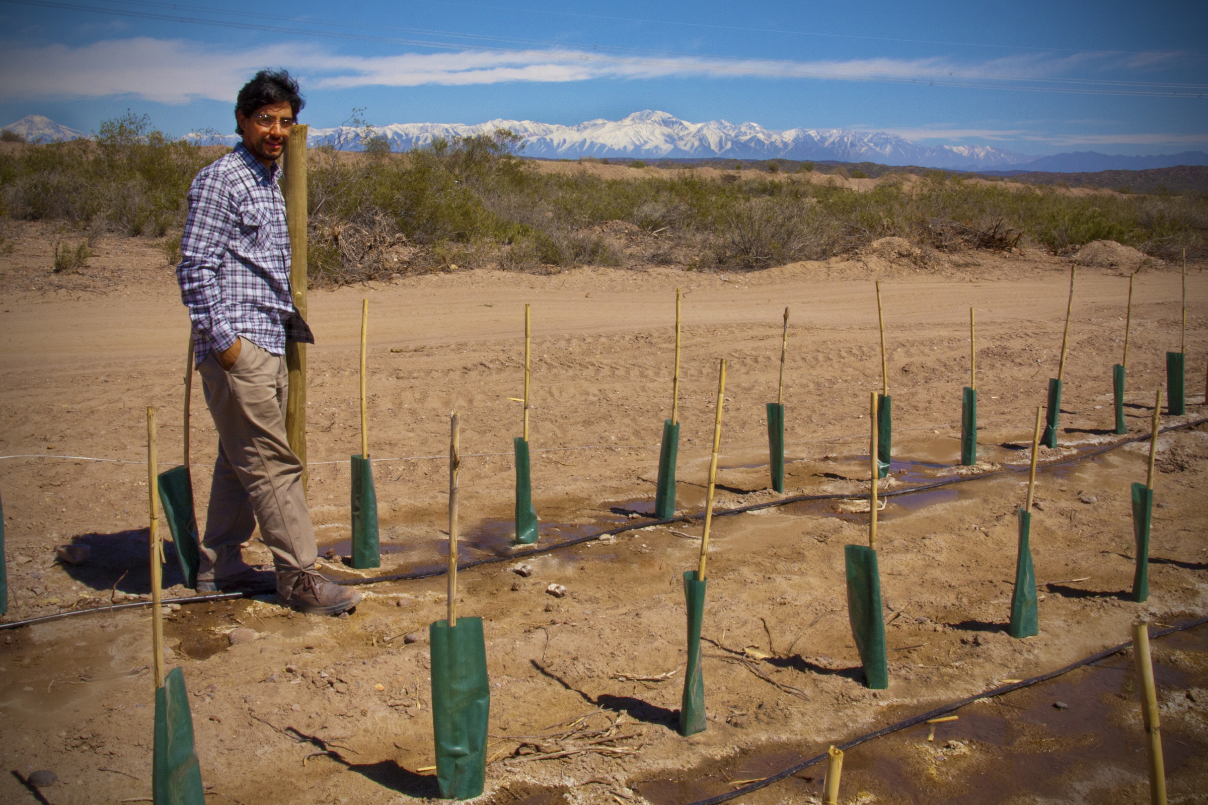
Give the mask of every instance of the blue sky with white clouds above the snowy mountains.
M 94 131 L 132 109 L 174 134 L 228 132 L 242 82 L 284 65 L 319 127 L 354 108 L 376 124 L 657 109 L 1174 154 L 1208 150 L 1206 22 L 1203 2 L 0 0 L 0 123 Z

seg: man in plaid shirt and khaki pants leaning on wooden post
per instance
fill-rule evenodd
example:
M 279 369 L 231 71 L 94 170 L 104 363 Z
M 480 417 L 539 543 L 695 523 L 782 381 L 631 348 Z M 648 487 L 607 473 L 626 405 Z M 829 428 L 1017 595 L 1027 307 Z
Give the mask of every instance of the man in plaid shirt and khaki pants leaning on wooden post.
M 265 590 L 303 612 L 338 614 L 360 593 L 314 569 L 302 462 L 285 436 L 285 342 L 314 343 L 290 293 L 280 157 L 303 100 L 285 70 L 261 70 L 236 102 L 243 141 L 203 168 L 188 191 L 176 268 L 205 404 L 219 433 L 202 539 L 199 592 Z M 260 523 L 275 578 L 243 561 Z

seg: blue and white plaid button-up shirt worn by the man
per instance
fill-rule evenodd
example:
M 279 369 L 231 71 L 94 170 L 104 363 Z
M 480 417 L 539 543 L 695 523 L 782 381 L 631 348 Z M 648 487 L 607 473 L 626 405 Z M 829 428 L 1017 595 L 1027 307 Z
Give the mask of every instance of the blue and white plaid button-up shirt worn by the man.
M 193 323 L 194 358 L 238 336 L 281 355 L 285 342 L 314 343 L 290 293 L 290 238 L 280 168 L 265 168 L 240 143 L 202 168 L 188 190 L 188 220 L 176 266 Z

